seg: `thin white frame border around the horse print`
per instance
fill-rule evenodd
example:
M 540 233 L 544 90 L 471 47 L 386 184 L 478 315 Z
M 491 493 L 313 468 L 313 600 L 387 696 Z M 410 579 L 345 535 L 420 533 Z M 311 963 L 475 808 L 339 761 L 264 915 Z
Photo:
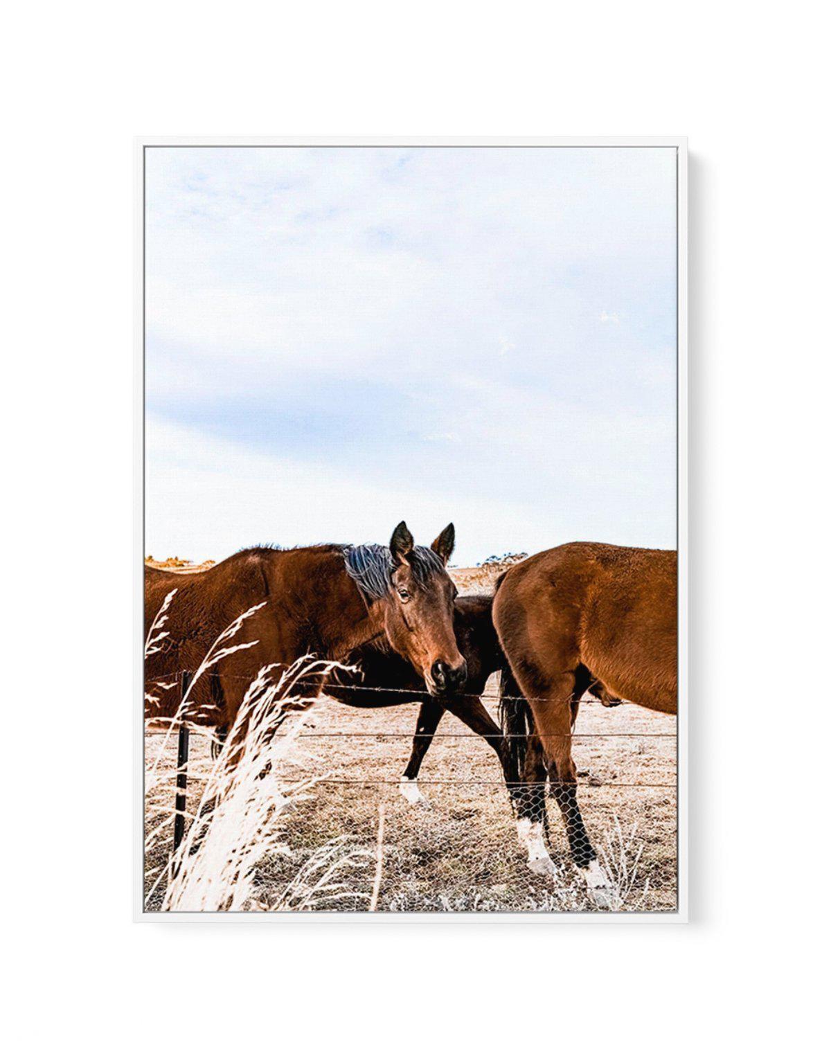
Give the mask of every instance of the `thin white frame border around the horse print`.
M 686 137 L 431 137 L 431 136 L 137 136 L 134 177 L 134 444 L 133 483 L 133 920 L 138 923 L 687 923 L 689 920 L 689 531 L 688 531 L 688 140 Z M 149 913 L 143 908 L 143 561 L 144 561 L 144 149 L 153 146 L 449 146 L 449 147 L 652 147 L 677 150 L 677 338 L 678 338 L 678 909 L 670 913 Z

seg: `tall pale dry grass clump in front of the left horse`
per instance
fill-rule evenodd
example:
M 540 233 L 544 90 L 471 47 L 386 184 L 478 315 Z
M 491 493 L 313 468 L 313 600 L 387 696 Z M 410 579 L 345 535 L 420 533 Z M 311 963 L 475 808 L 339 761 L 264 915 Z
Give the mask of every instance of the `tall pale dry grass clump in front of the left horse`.
M 164 636 L 169 594 L 151 626 L 145 653 L 152 653 Z M 247 644 L 234 644 L 243 622 L 262 604 L 241 615 L 215 641 L 194 675 L 193 683 L 169 721 L 149 722 L 157 741 L 148 748 L 144 778 L 145 906 L 178 912 L 245 912 L 260 909 L 312 909 L 331 907 L 365 895 L 344 879 L 357 869 L 364 852 L 342 839 L 330 839 L 310 854 L 273 898 L 260 890 L 259 871 L 273 854 L 290 854 L 285 839 L 286 812 L 311 798 L 316 778 L 308 761 L 299 758 L 298 736 L 307 727 L 313 705 L 298 711 L 296 692 L 309 677 L 334 669 L 337 663 L 300 659 L 274 682 L 274 666 L 264 666 L 251 682 L 237 720 L 216 760 L 209 756 L 212 732 L 200 727 L 200 711 L 189 707 L 199 677 L 224 658 Z M 293 715 L 289 715 L 289 714 Z M 178 729 L 188 725 L 195 752 L 187 761 L 190 810 L 177 852 L 172 832 L 177 818 L 175 751 Z M 201 742 L 201 744 L 200 744 Z M 155 750 L 151 753 L 150 750 Z M 313 758 L 314 760 L 314 758 Z M 319 761 L 318 761 L 319 762 Z M 298 773 L 298 765 L 302 771 Z

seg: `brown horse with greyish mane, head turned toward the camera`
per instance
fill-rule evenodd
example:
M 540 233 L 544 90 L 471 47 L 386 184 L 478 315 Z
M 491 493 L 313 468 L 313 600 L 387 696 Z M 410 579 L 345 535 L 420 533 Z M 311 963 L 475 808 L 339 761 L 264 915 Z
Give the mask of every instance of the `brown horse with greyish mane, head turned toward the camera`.
M 148 716 L 178 707 L 172 680 L 194 672 L 222 631 L 249 608 L 230 644 L 251 644 L 218 662 L 194 686 L 200 721 L 227 732 L 261 667 L 286 667 L 306 654 L 342 661 L 381 638 L 444 697 L 461 689 L 467 667 L 453 632 L 456 588 L 446 564 L 453 551 L 450 524 L 430 549 L 417 547 L 406 524 L 385 545 L 247 549 L 193 575 L 145 569 L 144 631 L 176 588 L 166 636 L 145 660 Z M 318 684 L 322 686 L 323 680 Z

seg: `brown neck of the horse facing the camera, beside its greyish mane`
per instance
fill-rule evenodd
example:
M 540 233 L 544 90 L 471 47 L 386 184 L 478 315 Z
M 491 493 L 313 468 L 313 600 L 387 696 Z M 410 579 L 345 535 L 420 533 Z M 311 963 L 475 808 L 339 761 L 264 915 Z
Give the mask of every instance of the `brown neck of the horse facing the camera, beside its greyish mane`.
M 317 639 L 330 658 L 342 658 L 383 634 L 382 601 L 367 605 L 346 574 L 340 553 L 325 558 L 321 569 L 315 572 L 312 589 L 310 619 L 314 619 Z

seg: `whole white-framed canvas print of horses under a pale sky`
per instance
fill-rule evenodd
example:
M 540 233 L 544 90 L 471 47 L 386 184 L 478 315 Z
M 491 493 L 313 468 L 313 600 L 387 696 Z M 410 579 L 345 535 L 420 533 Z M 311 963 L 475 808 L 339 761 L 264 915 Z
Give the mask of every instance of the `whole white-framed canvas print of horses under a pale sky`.
M 136 918 L 684 920 L 686 139 L 136 181 Z

